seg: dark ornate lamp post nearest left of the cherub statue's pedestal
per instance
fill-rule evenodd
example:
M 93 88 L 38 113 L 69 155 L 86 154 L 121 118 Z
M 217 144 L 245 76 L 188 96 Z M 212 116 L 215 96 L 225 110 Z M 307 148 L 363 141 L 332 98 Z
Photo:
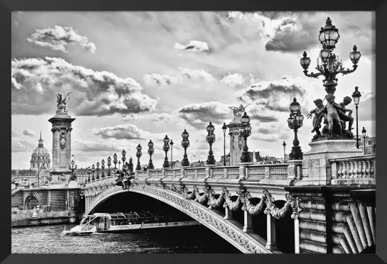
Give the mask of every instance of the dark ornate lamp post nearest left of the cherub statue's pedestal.
M 301 114 L 301 106 L 296 99 L 290 104 L 290 117 L 288 118 L 288 126 L 294 130 L 294 141 L 292 152 L 290 153 L 290 160 L 302 160 L 302 151 L 300 147 L 300 141 L 297 138 L 298 128 L 302 126 L 304 116 Z

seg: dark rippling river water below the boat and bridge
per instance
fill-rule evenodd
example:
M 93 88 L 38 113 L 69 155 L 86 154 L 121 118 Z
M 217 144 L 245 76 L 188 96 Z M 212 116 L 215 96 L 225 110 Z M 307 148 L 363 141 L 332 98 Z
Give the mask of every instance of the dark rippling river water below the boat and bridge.
M 240 253 L 205 226 L 62 236 L 75 225 L 12 228 L 12 253 Z

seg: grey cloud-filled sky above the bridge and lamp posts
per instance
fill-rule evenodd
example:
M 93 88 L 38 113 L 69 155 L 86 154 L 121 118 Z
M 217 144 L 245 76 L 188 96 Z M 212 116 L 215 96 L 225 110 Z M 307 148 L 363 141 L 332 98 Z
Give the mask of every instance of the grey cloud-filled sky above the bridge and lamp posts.
M 325 97 L 322 77 L 305 77 L 300 57 L 305 50 L 313 71 L 327 16 L 339 28 L 335 53 L 344 66 L 351 68 L 353 45 L 361 52 L 356 72 L 339 75 L 336 101 L 358 86 L 359 128 L 375 136 L 372 12 L 14 12 L 12 167 L 30 167 L 40 130 L 51 155 L 48 119 L 55 115 L 55 94 L 68 92 L 79 167 L 122 149 L 135 158 L 138 143 L 141 163 L 147 163 L 149 140 L 155 143 L 153 162 L 161 167 L 165 135 L 175 142 L 173 159 L 181 160 L 184 129 L 190 133 L 189 157 L 206 160 L 209 121 L 219 161 L 222 124 L 233 118 L 228 106 L 239 104 L 251 104 L 249 149 L 283 157 L 283 141 L 287 153 L 293 141 L 286 123 L 290 102 L 296 97 L 305 116 L 313 100 Z M 304 152 L 311 130 L 311 119 L 305 119 L 299 131 Z M 229 136 L 226 141 L 229 149 Z

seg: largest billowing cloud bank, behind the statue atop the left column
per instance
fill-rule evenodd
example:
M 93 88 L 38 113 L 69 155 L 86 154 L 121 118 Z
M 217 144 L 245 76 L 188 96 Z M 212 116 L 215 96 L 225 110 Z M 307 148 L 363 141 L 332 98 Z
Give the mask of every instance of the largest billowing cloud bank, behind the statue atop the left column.
M 55 109 L 55 94 L 67 92 L 67 104 L 77 116 L 109 116 L 152 111 L 157 101 L 141 93 L 132 78 L 72 65 L 61 58 L 45 57 L 11 61 L 13 114 L 43 114 Z M 52 101 L 52 103 L 49 103 Z

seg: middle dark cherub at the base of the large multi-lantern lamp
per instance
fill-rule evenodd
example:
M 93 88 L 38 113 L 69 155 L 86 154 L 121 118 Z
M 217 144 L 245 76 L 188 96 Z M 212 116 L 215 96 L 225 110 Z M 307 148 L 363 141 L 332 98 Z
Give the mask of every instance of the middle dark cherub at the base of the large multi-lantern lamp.
M 342 109 L 342 106 L 334 102 L 335 97 L 333 94 L 328 94 L 325 98 L 327 99 L 327 105 L 316 111 L 316 114 L 325 113 L 327 115 L 329 136 L 333 136 L 334 125 L 337 126 L 337 130 L 335 130 L 337 137 L 343 136 L 342 122 L 339 119 L 339 111 Z

